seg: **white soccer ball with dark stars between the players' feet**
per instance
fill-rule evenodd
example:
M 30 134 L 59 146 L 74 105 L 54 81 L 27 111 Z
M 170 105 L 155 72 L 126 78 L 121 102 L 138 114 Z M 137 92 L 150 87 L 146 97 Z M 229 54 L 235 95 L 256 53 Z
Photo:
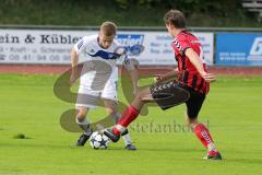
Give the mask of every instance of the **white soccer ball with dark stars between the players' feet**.
M 109 138 L 99 132 L 93 132 L 90 139 L 90 144 L 93 149 L 107 149 L 109 144 Z

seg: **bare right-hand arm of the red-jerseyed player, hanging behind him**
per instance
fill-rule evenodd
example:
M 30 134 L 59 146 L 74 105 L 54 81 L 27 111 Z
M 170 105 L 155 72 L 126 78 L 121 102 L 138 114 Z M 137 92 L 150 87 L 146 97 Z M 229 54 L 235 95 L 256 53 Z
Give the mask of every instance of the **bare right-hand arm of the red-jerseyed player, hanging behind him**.
M 189 58 L 189 60 L 193 63 L 193 66 L 196 68 L 201 77 L 206 81 L 206 82 L 214 82 L 215 81 L 215 75 L 213 73 L 207 73 L 204 70 L 203 67 L 203 61 L 199 57 L 199 55 L 192 49 L 188 48 L 186 50 L 186 56 Z

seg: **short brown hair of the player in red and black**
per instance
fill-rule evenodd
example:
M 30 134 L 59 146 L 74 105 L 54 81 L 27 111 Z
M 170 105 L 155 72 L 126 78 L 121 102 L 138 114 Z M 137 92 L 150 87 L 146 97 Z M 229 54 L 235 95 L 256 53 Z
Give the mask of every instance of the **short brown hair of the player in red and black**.
M 186 28 L 186 18 L 179 10 L 169 10 L 165 14 L 164 21 L 166 24 L 172 24 L 177 28 Z

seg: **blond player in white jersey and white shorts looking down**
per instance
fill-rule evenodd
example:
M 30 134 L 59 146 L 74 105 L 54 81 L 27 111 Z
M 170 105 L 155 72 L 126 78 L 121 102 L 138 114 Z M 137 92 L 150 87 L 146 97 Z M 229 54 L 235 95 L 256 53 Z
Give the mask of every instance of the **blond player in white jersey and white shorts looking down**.
M 117 26 L 112 22 L 104 22 L 100 25 L 98 35 L 84 36 L 71 50 L 72 73 L 70 82 L 74 83 L 76 79 L 76 65 L 79 55 L 83 54 L 85 62 L 80 78 L 79 95 L 76 100 L 76 122 L 83 129 L 76 145 L 84 145 L 92 135 L 92 129 L 87 113 L 95 108 L 99 100 L 104 101 L 107 113 L 118 121 L 121 115 L 117 112 L 117 83 L 118 67 L 117 59 L 121 54 L 116 52 L 122 48 L 115 39 Z M 139 91 L 139 75 L 128 58 L 124 58 L 123 66 L 129 70 L 133 84 L 133 93 Z M 128 132 L 122 135 L 127 150 L 136 150 Z

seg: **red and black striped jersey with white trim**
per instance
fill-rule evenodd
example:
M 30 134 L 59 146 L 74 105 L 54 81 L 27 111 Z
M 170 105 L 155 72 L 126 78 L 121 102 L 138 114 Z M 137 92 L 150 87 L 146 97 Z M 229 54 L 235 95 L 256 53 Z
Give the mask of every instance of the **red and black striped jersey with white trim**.
M 207 94 L 210 91 L 210 83 L 200 75 L 196 68 L 184 54 L 188 48 L 192 48 L 203 60 L 203 68 L 206 71 L 203 50 L 199 39 L 188 31 L 181 31 L 177 37 L 174 38 L 171 46 L 175 50 L 175 57 L 178 62 L 177 81 L 196 92 Z

